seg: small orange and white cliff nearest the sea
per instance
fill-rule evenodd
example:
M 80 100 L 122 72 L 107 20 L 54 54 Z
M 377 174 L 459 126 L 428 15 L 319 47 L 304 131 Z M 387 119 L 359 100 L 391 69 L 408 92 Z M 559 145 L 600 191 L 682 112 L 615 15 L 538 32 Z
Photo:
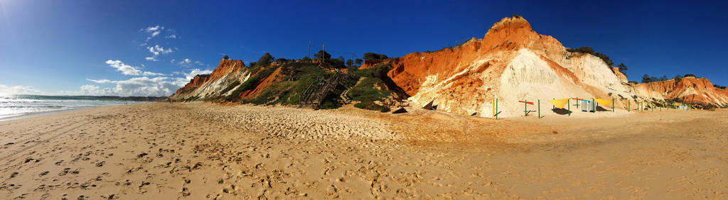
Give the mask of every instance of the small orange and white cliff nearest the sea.
M 231 84 L 242 83 L 250 78 L 250 71 L 242 60 L 220 60 L 215 70 L 209 75 L 195 76 L 194 79 L 170 96 L 170 100 L 212 100 L 229 95 L 236 86 Z M 229 89 L 225 91 L 225 89 Z M 224 92 L 224 93 L 223 93 Z

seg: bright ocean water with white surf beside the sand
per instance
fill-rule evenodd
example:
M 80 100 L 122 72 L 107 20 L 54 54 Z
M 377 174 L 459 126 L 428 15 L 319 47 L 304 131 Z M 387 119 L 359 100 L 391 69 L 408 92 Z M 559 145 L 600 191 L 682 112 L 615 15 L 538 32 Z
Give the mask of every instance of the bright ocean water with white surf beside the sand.
M 103 105 L 124 105 L 138 101 L 110 100 L 102 97 L 0 95 L 0 121 L 28 115 L 72 111 Z

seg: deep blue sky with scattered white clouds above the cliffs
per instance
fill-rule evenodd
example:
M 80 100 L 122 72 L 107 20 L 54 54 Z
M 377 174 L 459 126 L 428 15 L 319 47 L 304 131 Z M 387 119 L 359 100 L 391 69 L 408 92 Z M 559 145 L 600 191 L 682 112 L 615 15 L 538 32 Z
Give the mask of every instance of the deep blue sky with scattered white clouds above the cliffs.
M 711 1 L 0 0 L 0 92 L 170 95 L 223 55 L 300 58 L 310 41 L 333 57 L 398 57 L 483 38 L 513 14 L 566 47 L 625 63 L 630 80 L 693 73 L 728 85 L 726 10 Z

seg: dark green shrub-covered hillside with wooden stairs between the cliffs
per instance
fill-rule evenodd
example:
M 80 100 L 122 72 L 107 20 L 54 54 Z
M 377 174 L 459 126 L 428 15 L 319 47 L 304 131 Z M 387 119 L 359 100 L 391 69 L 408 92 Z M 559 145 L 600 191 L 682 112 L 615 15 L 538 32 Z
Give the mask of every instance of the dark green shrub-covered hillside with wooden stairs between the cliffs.
M 381 57 L 385 56 L 381 55 Z M 339 108 L 348 100 L 353 100 L 357 108 L 389 111 L 387 106 L 375 102 L 384 102 L 384 99 L 393 96 L 401 97 L 401 95 L 392 95 L 393 93 L 389 91 L 392 88 L 391 84 L 388 84 L 392 82 L 387 76 L 387 72 L 391 69 L 389 65 L 378 65 L 364 70 L 352 66 L 342 70 L 341 68 L 344 68 L 343 57 L 331 59 L 331 55 L 328 55 L 327 52 L 320 51 L 317 58 L 326 60 L 319 63 L 309 59 L 278 58 L 273 61 L 272 55 L 263 55 L 257 63 L 251 63 L 248 67 L 250 78 L 245 81 L 241 80 L 242 82 L 233 81 L 218 92 L 221 96 L 208 97 L 204 100 L 253 105 L 298 105 L 303 103 L 304 95 L 308 95 L 309 99 L 305 104 L 319 103 L 320 106 L 317 108 Z M 349 65 L 355 62 L 349 61 Z M 333 81 L 334 79 L 336 81 Z M 323 87 L 324 85 L 329 87 Z M 256 88 L 260 90 L 253 91 Z M 322 88 L 327 89 L 320 90 Z M 342 95 L 344 92 L 347 94 Z M 326 94 L 326 96 L 312 94 Z M 185 100 L 197 99 L 197 97 L 190 97 Z M 312 102 L 312 100 L 314 101 Z

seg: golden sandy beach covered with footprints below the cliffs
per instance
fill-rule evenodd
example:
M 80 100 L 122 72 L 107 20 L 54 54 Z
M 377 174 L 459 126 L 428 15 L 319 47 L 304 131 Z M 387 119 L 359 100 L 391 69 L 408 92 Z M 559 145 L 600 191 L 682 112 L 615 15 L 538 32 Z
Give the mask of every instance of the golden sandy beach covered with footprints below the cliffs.
M 0 121 L 0 197 L 726 199 L 725 116 L 104 106 Z

